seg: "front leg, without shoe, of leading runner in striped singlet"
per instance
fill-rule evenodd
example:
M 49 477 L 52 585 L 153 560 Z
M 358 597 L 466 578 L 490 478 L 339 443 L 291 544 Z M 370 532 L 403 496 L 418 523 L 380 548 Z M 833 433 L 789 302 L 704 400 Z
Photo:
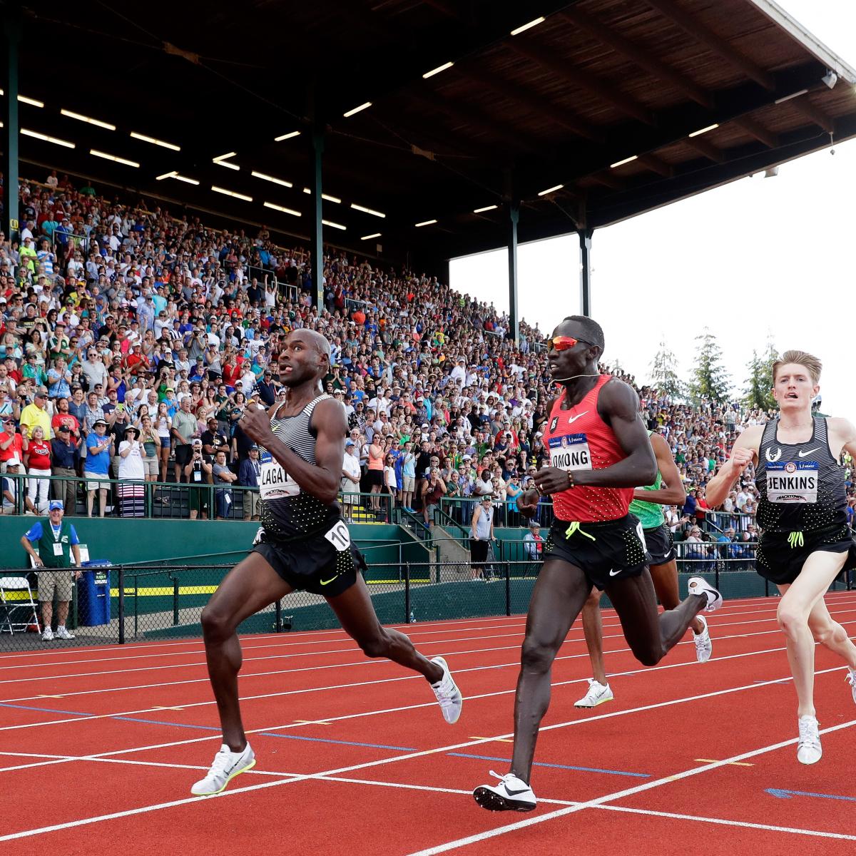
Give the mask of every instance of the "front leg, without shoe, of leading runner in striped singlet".
M 250 553 L 229 571 L 202 610 L 208 676 L 217 699 L 223 743 L 232 752 L 242 752 L 247 746 L 238 704 L 238 672 L 242 656 L 235 628 L 289 591 L 293 591 L 292 587 L 276 574 L 263 556 Z

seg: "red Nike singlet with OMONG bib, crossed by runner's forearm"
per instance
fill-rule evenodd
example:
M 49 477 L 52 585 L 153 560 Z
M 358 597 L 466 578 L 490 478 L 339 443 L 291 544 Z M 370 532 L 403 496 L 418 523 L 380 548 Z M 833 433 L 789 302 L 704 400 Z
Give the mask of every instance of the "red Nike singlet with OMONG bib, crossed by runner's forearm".
M 597 398 L 603 384 L 611 375 L 601 375 L 597 383 L 579 404 L 562 410 L 565 390 L 553 404 L 550 420 L 544 431 L 544 446 L 550 455 L 550 466 L 562 470 L 602 470 L 627 455 L 615 434 L 597 413 Z M 600 523 L 620 520 L 627 515 L 633 499 L 630 487 L 586 487 L 553 494 L 557 520 L 579 520 L 580 523 Z

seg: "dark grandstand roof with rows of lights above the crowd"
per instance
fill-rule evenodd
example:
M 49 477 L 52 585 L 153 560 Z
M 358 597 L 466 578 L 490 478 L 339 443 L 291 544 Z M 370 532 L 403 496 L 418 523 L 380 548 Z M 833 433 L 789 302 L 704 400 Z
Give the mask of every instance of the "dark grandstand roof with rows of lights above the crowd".
M 75 147 L 23 159 L 304 236 L 314 122 L 325 239 L 426 267 L 502 246 L 511 199 L 528 241 L 856 135 L 856 71 L 771 0 L 25 4 L 21 127 Z

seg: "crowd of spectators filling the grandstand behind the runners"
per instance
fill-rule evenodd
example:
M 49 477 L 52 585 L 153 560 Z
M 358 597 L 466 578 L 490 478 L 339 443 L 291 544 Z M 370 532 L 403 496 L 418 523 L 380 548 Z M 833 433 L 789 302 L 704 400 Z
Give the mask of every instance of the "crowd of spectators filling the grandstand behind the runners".
M 346 510 L 397 506 L 431 526 L 441 508 L 466 524 L 490 496 L 497 525 L 520 524 L 516 499 L 544 459 L 552 395 L 537 329 L 521 323 L 515 344 L 492 305 L 331 247 L 315 307 L 308 253 L 277 247 L 264 227 L 206 228 L 68 176 L 22 181 L 21 217 L 20 241 L 0 233 L 0 465 L 27 478 L 26 487 L 3 478 L 4 514 L 42 512 L 53 473 L 68 479 L 51 484 L 66 514 L 77 490 L 88 514 L 143 513 L 139 490 L 114 504 L 106 479 L 121 478 L 191 493 L 213 484 L 215 507 L 199 493 L 190 516 L 235 516 L 232 491 L 253 491 L 258 474 L 241 413 L 282 395 L 280 342 L 308 327 L 330 341 L 324 391 L 348 412 Z M 666 509 L 676 538 L 699 538 L 707 555 L 722 548 L 704 539 L 733 530 L 728 550 L 751 549 L 751 473 L 721 511 L 702 496 L 737 434 L 766 415 L 691 407 L 614 373 L 639 391 L 643 418 L 675 454 L 687 488 L 685 506 Z M 258 516 L 257 499 L 241 506 Z

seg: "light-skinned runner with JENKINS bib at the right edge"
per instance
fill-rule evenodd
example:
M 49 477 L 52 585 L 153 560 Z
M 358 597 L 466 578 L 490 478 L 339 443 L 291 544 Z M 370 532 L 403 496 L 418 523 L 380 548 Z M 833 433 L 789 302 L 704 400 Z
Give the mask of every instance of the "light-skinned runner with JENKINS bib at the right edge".
M 797 758 L 802 764 L 814 764 L 823 754 L 814 708 L 816 640 L 847 663 L 856 702 L 856 645 L 823 602 L 835 577 L 856 568 L 839 464 L 842 452 L 856 455 L 856 428 L 847 419 L 812 416 L 820 370 L 820 360 L 803 351 L 787 351 L 776 360 L 773 395 L 778 416 L 766 425 L 746 428 L 705 494 L 710 508 L 716 508 L 746 467 L 755 463 L 762 530 L 756 568 L 782 592 L 777 617 L 797 692 Z

